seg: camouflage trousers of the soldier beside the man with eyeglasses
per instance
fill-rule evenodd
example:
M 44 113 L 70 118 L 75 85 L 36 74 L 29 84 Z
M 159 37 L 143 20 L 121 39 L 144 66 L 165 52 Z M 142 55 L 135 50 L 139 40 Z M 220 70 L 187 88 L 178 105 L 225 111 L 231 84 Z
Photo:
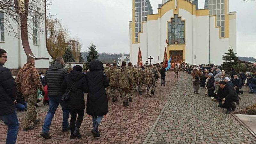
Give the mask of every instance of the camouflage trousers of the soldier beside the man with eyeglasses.
M 36 113 L 37 93 L 24 94 L 24 98 L 28 102 L 28 110 L 26 113 L 23 129 L 28 128 L 30 126 L 31 121 L 34 122 L 36 120 L 36 117 L 37 117 L 37 113 Z

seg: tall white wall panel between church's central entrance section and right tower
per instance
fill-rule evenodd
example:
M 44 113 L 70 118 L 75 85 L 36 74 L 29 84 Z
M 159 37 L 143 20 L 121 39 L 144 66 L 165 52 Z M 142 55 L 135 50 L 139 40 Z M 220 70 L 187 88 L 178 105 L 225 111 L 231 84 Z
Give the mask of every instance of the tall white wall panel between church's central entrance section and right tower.
M 209 16 L 196 17 L 196 65 L 209 63 Z

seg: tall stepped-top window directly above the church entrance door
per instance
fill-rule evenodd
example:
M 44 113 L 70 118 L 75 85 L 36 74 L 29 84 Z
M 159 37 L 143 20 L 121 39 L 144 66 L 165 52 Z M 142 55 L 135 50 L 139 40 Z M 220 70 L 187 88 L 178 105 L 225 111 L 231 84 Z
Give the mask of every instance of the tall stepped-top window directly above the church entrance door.
M 168 22 L 168 44 L 185 44 L 185 21 L 174 14 L 171 22 Z

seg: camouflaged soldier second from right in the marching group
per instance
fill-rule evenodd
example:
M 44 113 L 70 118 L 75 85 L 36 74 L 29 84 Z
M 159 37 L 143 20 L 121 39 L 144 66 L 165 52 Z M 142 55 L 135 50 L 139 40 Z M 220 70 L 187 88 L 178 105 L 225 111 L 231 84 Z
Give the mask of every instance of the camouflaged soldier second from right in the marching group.
M 147 90 L 147 92 L 146 92 L 147 97 L 148 96 L 151 97 L 152 87 L 156 83 L 154 74 L 153 74 L 152 70 L 149 67 L 150 66 L 147 66 L 145 68 L 145 70 L 143 71 L 143 81 L 144 81 L 144 85 L 145 85 L 146 90 Z

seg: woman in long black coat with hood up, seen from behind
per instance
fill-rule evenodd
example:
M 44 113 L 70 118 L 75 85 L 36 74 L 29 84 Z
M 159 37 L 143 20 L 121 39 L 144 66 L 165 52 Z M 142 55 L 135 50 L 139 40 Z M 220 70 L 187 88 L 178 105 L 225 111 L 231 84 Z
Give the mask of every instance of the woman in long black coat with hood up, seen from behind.
M 86 113 L 92 116 L 93 129 L 91 132 L 93 133 L 93 136 L 100 137 L 98 127 L 103 116 L 108 113 L 108 97 L 105 88 L 109 85 L 102 62 L 99 60 L 92 60 L 90 69 L 85 77 L 89 88 Z

